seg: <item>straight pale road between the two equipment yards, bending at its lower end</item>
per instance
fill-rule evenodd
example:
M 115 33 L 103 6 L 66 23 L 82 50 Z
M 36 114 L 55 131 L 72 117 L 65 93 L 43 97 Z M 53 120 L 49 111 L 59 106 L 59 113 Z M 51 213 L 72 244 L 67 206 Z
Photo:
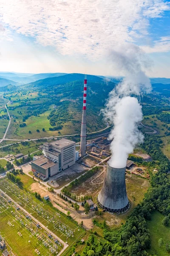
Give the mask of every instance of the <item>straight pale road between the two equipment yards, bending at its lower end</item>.
M 0 189 L 0 191 L 6 195 L 6 197 L 8 197 L 14 204 L 17 204 L 11 197 L 9 197 L 3 190 Z M 68 247 L 68 244 L 66 244 L 64 241 L 62 241 L 62 239 L 60 239 L 58 236 L 56 236 L 51 230 L 49 230 L 47 227 L 45 227 L 45 225 L 43 225 L 40 221 L 38 221 L 36 218 L 34 218 L 29 212 L 26 211 L 26 209 L 24 209 L 23 207 L 20 206 L 20 204 L 17 204 L 18 207 L 20 207 L 20 209 L 22 209 L 24 212 L 26 212 L 29 216 L 31 216 L 32 219 L 34 219 L 34 221 L 36 221 L 37 223 L 40 224 L 40 226 L 42 226 L 45 230 L 48 231 L 48 233 L 51 233 L 55 238 L 57 238 L 63 245 L 64 247 L 62 248 L 62 250 L 57 254 L 57 256 L 59 256 L 61 253 L 63 253 L 63 251 Z

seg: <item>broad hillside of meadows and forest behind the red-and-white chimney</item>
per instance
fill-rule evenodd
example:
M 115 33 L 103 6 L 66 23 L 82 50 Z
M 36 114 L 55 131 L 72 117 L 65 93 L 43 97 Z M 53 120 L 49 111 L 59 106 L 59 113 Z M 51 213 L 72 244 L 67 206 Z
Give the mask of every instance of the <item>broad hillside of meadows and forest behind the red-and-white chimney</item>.
M 106 127 L 99 113 L 115 84 L 96 76 L 89 75 L 87 79 L 87 132 L 94 132 Z M 9 111 L 15 117 L 8 137 L 36 138 L 80 133 L 83 88 L 83 74 L 67 74 L 35 81 L 13 94 L 6 92 L 6 99 L 10 97 L 13 102 Z

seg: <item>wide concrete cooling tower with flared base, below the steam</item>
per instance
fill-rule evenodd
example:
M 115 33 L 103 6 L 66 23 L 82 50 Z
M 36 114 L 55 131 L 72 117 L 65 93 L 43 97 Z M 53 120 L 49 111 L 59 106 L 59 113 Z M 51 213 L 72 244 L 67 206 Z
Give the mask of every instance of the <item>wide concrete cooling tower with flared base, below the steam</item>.
M 125 168 L 113 168 L 107 164 L 104 183 L 97 201 L 107 212 L 124 212 L 129 207 L 126 192 Z

